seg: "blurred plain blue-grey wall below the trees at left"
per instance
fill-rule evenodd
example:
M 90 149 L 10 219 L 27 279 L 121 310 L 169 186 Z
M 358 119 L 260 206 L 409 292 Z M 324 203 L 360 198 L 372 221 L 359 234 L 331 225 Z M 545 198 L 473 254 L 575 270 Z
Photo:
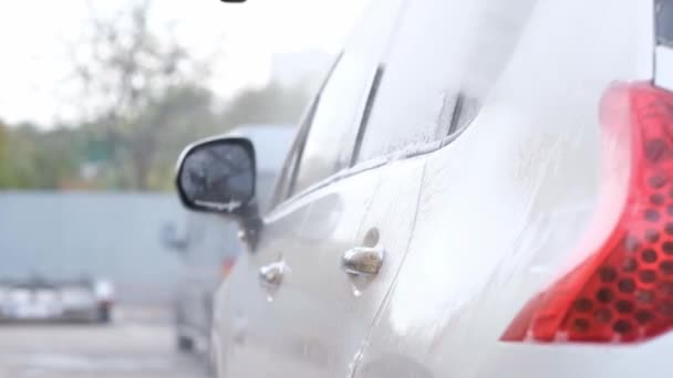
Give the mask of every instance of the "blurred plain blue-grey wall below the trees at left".
M 159 228 L 185 221 L 172 193 L 0 192 L 0 277 L 105 276 L 123 301 L 167 301 L 182 265 Z

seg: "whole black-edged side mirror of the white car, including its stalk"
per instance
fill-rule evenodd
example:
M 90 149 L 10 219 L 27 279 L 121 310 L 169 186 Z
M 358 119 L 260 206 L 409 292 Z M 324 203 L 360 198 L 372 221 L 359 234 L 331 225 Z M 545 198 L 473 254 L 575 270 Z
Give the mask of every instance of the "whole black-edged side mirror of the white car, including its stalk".
M 175 183 L 186 208 L 236 218 L 242 239 L 255 244 L 261 228 L 256 175 L 255 148 L 249 139 L 216 137 L 185 148 Z

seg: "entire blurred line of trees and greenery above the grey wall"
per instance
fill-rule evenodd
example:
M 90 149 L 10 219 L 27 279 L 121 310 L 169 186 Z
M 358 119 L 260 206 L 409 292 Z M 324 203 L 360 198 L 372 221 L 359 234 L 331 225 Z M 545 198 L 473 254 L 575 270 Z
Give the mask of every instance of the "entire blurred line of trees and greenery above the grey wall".
M 187 144 L 241 124 L 296 123 L 307 91 L 276 82 L 222 103 L 207 61 L 152 28 L 148 1 L 92 17 L 73 50 L 80 122 L 51 129 L 0 122 L 0 189 L 164 190 Z M 1 115 L 0 115 L 1 116 Z

